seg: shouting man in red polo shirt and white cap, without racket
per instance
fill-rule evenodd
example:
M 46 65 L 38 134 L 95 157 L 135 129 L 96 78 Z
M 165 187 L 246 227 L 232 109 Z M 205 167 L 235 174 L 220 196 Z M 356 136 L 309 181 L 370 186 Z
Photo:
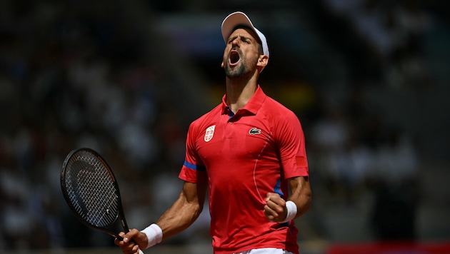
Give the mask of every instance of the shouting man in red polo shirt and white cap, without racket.
M 121 233 L 115 243 L 124 253 L 188 228 L 206 191 L 214 253 L 299 253 L 293 219 L 311 204 L 301 124 L 257 83 L 269 61 L 264 34 L 242 12 L 227 16 L 221 31 L 226 94 L 189 126 L 179 198 L 156 223 Z

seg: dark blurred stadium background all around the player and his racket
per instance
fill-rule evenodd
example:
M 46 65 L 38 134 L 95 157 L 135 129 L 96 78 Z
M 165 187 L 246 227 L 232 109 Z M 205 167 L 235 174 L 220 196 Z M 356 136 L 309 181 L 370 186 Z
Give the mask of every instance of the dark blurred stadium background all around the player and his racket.
M 64 202 L 74 148 L 109 162 L 131 228 L 159 218 L 189 123 L 225 92 L 237 10 L 268 39 L 259 83 L 304 128 L 301 253 L 450 253 L 449 2 L 433 0 L 0 0 L 0 253 L 119 253 Z M 152 253 L 212 253 L 207 210 Z

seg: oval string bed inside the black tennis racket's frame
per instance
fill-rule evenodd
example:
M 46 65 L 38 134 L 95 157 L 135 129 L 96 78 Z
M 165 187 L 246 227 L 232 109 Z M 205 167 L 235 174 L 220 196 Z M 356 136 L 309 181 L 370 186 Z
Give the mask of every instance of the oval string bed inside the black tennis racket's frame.
M 104 163 L 82 152 L 72 157 L 67 168 L 66 188 L 77 213 L 97 227 L 114 223 L 119 214 L 119 197 Z

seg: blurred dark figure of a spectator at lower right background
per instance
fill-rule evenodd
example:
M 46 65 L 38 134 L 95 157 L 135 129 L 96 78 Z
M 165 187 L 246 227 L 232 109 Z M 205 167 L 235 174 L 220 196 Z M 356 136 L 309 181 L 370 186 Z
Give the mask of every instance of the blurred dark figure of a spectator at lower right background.
M 371 223 L 379 240 L 416 240 L 421 201 L 418 159 L 411 140 L 395 130 L 379 148 L 371 186 L 375 193 Z

